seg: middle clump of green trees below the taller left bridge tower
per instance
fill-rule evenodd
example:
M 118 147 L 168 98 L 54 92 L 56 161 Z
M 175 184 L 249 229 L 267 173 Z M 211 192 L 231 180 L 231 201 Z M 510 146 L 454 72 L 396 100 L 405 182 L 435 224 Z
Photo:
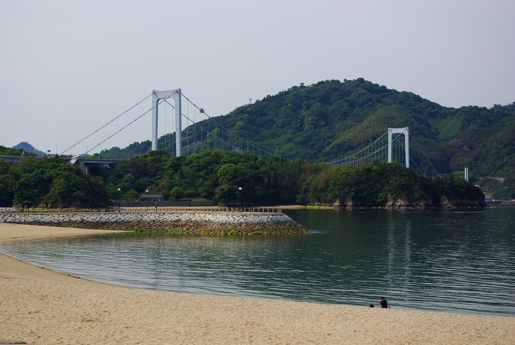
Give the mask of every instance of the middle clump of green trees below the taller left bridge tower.
M 165 200 L 202 198 L 236 205 L 242 188 L 245 205 L 277 205 L 295 203 L 302 183 L 318 169 L 300 159 L 290 162 L 252 153 L 202 151 L 170 157 L 156 150 L 97 173 L 126 197 L 148 189 L 163 194 Z

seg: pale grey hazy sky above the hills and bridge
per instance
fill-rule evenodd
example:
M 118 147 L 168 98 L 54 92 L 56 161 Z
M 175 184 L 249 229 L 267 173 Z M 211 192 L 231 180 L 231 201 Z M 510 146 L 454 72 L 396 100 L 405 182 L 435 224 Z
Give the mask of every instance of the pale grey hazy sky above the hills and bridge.
M 92 154 L 150 140 L 150 98 L 124 112 L 152 90 L 180 88 L 211 117 L 360 77 L 448 107 L 506 105 L 513 13 L 512 0 L 0 0 L 0 145 Z M 159 136 L 173 123 L 161 105 Z

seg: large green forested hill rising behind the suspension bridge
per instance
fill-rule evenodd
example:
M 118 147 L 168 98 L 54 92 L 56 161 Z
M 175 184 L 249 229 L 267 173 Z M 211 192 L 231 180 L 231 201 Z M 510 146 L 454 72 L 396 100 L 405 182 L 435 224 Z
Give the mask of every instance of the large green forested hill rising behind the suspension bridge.
M 311 162 L 346 157 L 388 127 L 409 127 L 439 173 L 469 167 L 472 179 L 494 176 L 492 183 L 515 185 L 515 103 L 449 108 L 358 78 L 294 86 L 216 121 L 267 151 Z M 122 154 L 136 155 L 149 146 L 134 143 Z M 424 164 L 420 151 L 411 155 Z

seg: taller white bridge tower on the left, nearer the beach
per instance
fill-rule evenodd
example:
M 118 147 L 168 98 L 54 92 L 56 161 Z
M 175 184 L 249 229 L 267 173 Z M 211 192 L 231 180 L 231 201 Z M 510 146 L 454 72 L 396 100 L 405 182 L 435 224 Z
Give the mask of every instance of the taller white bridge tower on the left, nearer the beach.
M 181 89 L 152 91 L 152 147 L 151 150 L 158 149 L 158 104 L 166 98 L 174 98 L 175 101 L 175 152 L 176 156 L 182 155 L 182 126 L 181 126 Z

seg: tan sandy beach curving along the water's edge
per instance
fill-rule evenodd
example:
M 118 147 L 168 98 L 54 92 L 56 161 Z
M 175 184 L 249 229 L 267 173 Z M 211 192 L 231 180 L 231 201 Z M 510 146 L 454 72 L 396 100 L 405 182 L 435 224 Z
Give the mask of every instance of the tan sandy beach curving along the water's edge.
M 0 224 L 0 241 L 101 232 L 107 231 Z M 139 290 L 3 254 L 0 291 L 0 344 L 512 344 L 515 339 L 513 317 L 400 310 L 391 301 L 392 309 L 381 309 Z

